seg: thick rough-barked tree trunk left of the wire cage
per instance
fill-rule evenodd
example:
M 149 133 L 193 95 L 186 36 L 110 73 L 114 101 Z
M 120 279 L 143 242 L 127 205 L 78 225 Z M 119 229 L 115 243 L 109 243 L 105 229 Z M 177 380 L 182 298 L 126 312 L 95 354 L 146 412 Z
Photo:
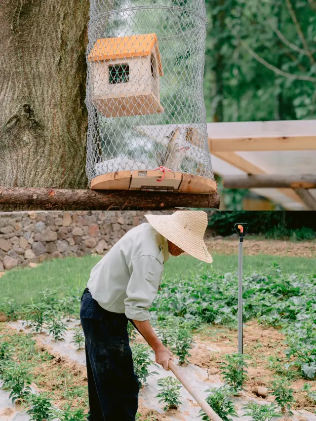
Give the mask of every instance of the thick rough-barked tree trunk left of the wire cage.
M 86 0 L 0 0 L 0 185 L 85 188 Z

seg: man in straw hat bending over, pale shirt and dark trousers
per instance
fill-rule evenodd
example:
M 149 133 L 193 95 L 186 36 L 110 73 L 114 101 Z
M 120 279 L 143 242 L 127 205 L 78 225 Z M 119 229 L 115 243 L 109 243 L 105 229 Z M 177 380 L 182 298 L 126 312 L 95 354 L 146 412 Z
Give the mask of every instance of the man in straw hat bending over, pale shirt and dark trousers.
M 212 262 L 203 240 L 205 212 L 177 211 L 146 218 L 149 223 L 128 231 L 92 268 L 81 298 L 90 421 L 135 420 L 139 384 L 128 344 L 128 320 L 154 349 L 156 362 L 169 370 L 172 353 L 154 333 L 148 311 L 169 253 L 186 252 Z

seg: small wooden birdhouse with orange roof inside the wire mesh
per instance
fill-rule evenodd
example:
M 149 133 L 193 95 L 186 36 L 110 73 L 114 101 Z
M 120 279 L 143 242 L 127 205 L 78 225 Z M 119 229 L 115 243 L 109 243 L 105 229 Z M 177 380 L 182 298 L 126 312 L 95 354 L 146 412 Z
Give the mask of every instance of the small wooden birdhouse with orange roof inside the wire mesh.
M 156 34 L 101 38 L 88 55 L 90 95 L 106 117 L 162 113 Z

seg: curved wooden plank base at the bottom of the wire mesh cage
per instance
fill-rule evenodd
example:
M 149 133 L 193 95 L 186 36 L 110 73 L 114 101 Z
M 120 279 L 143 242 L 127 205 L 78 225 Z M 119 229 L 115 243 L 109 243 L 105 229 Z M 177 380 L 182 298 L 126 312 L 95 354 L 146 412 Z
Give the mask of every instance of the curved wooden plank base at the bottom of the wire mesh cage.
M 156 190 L 216 194 L 217 184 L 213 180 L 193 174 L 134 170 L 99 175 L 91 181 L 91 190 Z

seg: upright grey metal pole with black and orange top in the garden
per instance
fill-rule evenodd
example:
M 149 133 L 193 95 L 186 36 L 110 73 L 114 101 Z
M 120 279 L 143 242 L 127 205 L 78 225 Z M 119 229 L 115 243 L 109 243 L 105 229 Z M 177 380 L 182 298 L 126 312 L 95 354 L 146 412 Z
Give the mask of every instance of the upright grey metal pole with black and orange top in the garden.
M 248 231 L 248 224 L 235 224 L 235 230 L 239 235 L 238 245 L 238 352 L 243 353 L 242 340 L 242 257 L 243 257 L 243 237 Z

